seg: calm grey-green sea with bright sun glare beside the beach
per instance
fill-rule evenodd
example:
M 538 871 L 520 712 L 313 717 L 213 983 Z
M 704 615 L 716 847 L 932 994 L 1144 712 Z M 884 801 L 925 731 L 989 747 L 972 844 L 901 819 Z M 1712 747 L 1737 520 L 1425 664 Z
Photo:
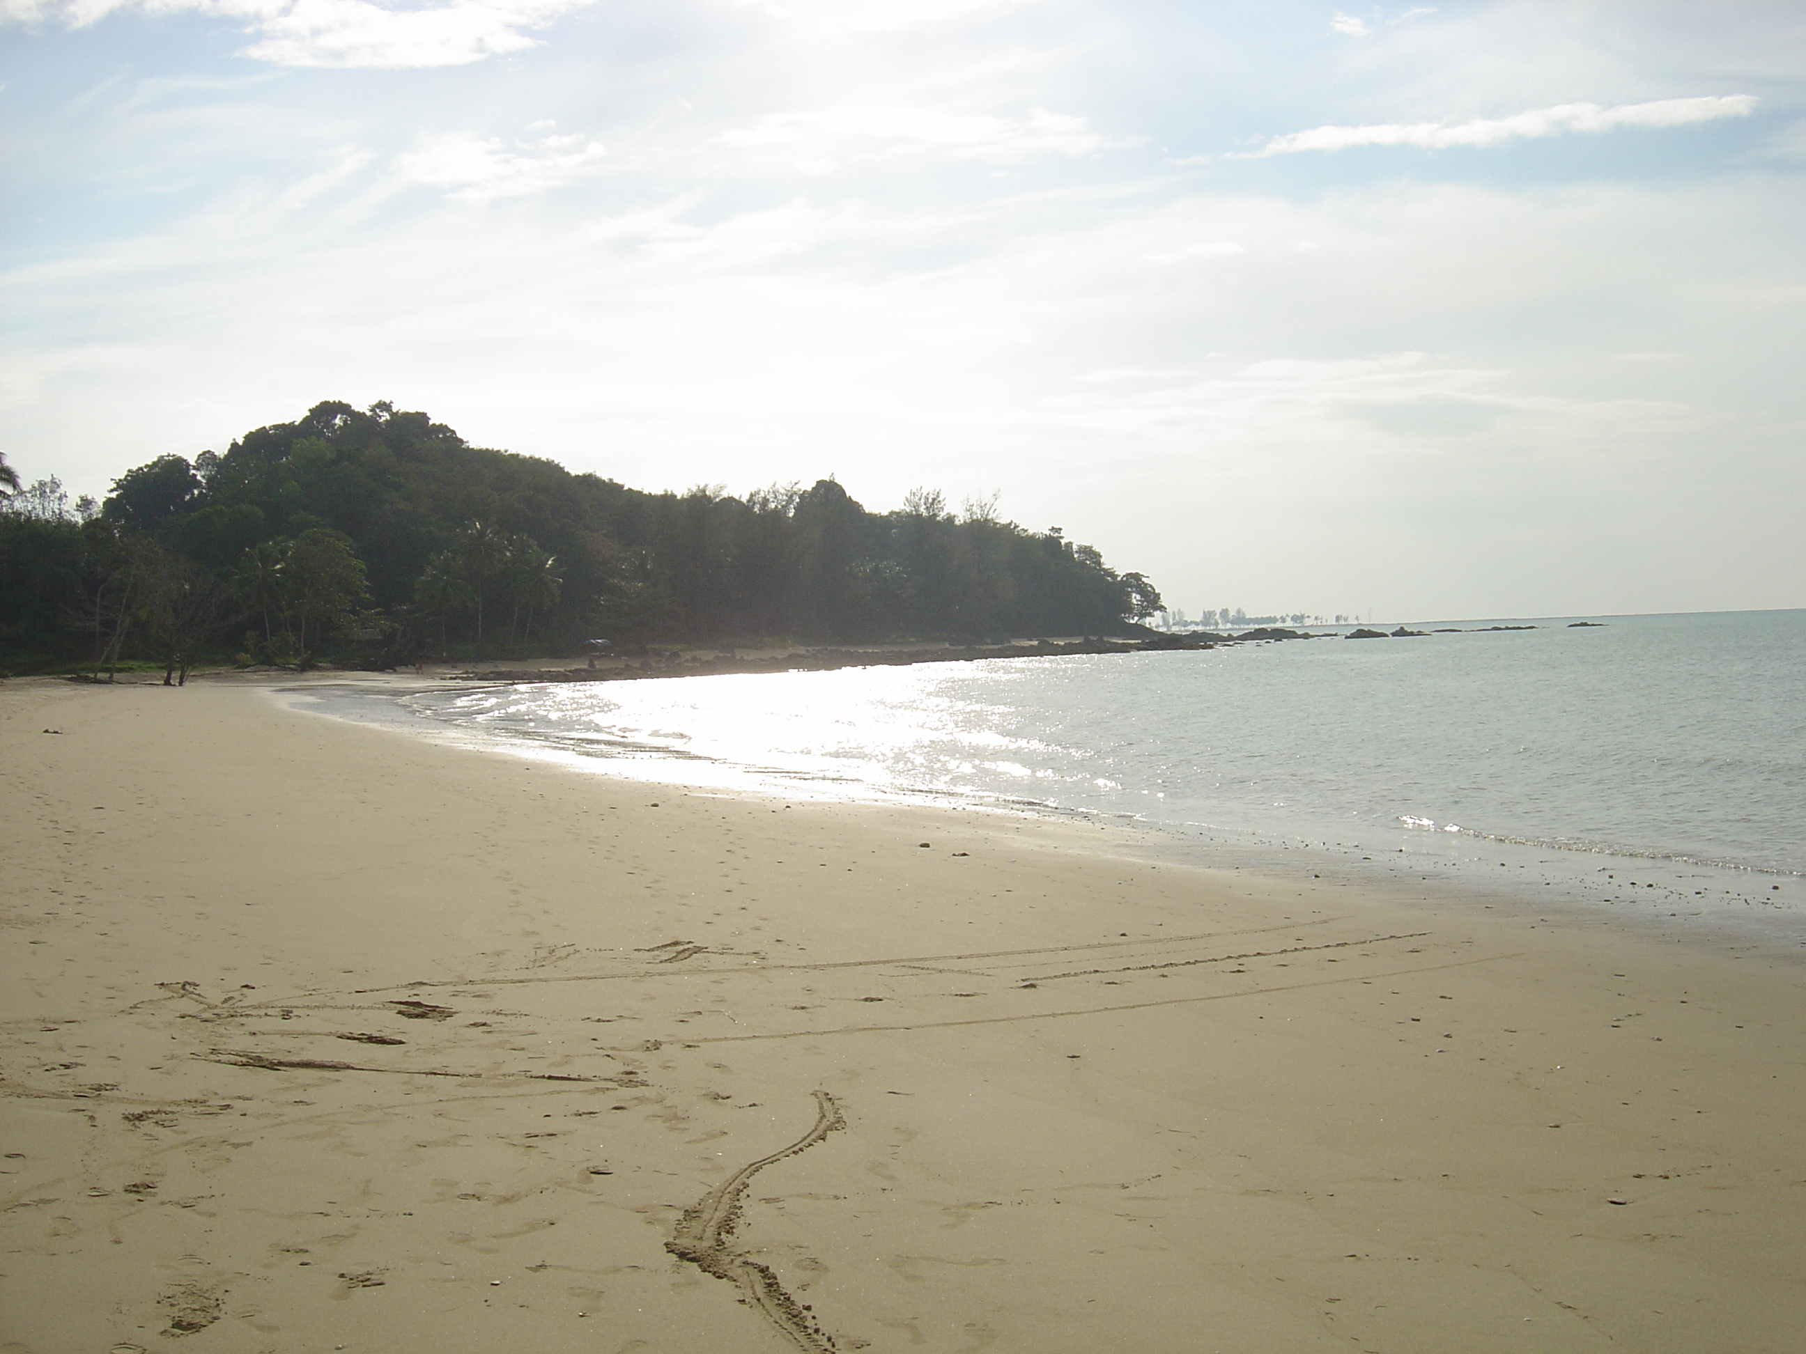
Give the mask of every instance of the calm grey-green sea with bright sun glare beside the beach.
M 1078 814 L 1250 863 L 1336 858 L 1492 890 L 1506 876 L 1479 870 L 1503 865 L 1519 895 L 1642 912 L 1795 912 L 1806 612 L 1587 619 L 1602 625 L 455 688 L 403 708 L 417 729 L 648 780 Z

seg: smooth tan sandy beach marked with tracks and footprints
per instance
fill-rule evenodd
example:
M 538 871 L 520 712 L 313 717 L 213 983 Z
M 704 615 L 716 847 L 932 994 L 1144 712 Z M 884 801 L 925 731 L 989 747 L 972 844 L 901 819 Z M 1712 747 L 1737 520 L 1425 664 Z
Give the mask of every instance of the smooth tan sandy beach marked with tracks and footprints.
M 0 686 L 20 1354 L 1799 1349 L 1797 959 Z

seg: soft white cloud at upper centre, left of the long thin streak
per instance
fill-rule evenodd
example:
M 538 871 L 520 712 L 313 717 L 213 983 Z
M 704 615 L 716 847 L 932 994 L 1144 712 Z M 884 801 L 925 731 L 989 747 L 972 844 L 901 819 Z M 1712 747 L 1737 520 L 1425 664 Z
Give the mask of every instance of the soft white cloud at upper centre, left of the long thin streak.
M 769 114 L 753 126 L 719 135 L 717 144 L 775 148 L 805 172 L 842 161 L 941 153 L 952 159 L 1019 162 L 1042 155 L 1084 155 L 1129 144 L 1089 130 L 1084 117 L 1037 108 L 1026 117 L 993 117 L 939 108 L 858 107 Z

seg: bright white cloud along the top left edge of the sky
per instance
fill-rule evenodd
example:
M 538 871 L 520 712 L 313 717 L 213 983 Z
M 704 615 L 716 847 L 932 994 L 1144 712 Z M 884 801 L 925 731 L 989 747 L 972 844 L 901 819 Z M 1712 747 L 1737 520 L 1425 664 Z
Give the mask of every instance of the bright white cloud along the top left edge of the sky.
M 244 20 L 260 34 L 240 56 L 275 65 L 410 69 L 470 65 L 538 47 L 527 29 L 594 0 L 453 0 L 403 9 L 370 0 L 0 0 L 0 22 L 87 27 L 121 9 Z

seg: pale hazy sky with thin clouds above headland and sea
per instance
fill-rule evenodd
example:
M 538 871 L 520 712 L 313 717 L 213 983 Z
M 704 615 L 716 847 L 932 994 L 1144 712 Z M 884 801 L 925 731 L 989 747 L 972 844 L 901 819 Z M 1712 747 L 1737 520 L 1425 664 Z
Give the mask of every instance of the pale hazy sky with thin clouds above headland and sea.
M 0 0 L 0 450 L 323 399 L 1185 610 L 1806 605 L 1806 5 Z

